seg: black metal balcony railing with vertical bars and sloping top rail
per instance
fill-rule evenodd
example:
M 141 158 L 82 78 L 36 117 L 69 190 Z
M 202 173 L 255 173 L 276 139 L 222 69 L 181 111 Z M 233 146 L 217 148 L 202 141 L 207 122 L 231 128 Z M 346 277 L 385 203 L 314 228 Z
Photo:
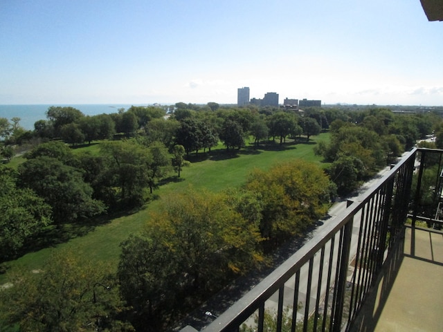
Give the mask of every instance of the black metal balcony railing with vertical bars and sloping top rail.
M 204 331 L 350 329 L 383 263 L 395 251 L 397 239 L 403 237 L 408 213 L 420 218 L 423 181 L 419 174 L 426 172 L 426 154 L 440 154 L 440 163 L 435 156 L 432 160 L 442 169 L 442 152 L 413 149 L 406 154 L 376 185 L 348 202 L 334 219 L 325 221 L 305 246 Z M 418 172 L 417 156 L 421 160 Z M 413 174 L 417 173 L 415 188 Z M 440 200 L 443 181 L 432 187 Z M 197 330 L 186 326 L 181 331 Z

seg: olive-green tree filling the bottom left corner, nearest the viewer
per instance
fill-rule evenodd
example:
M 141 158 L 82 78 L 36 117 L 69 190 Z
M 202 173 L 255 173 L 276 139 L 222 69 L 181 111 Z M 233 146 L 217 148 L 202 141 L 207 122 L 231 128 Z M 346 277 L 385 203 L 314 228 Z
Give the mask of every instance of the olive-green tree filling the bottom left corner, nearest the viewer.
M 118 320 L 125 306 L 109 266 L 80 257 L 57 252 L 44 270 L 12 273 L 12 287 L 0 292 L 0 321 L 20 331 L 134 331 Z

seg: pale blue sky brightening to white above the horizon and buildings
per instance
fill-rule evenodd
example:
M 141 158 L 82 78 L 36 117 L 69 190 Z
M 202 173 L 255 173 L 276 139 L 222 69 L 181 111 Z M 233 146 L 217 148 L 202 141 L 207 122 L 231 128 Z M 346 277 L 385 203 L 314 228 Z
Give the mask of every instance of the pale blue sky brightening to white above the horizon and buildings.
M 419 0 L 1 0 L 0 104 L 443 105 Z

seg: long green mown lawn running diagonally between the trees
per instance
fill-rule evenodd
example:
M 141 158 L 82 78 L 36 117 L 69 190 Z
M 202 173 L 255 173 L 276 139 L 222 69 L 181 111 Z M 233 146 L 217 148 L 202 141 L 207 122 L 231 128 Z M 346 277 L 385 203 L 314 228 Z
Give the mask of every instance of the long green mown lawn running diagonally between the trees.
M 314 156 L 313 147 L 318 140 L 329 140 L 327 133 L 311 138 L 309 142 L 287 142 L 286 145 L 266 145 L 253 148 L 251 145 L 237 151 L 237 154 L 227 154 L 222 147 L 213 149 L 210 154 L 199 153 L 191 155 L 191 165 L 181 172 L 177 181 L 165 181 L 154 192 L 158 199 L 147 203 L 143 210 L 125 216 L 107 217 L 105 220 L 94 221 L 98 225 L 66 225 L 62 230 L 51 229 L 48 237 L 57 239 L 57 232 L 63 234 L 62 241 L 48 241 L 49 248 L 29 252 L 15 261 L 6 262 L 10 270 L 15 266 L 24 266 L 28 270 L 39 270 L 53 250 L 71 249 L 78 255 L 87 256 L 93 260 L 107 261 L 117 266 L 120 255 L 120 243 L 127 239 L 129 234 L 138 232 L 149 218 L 150 212 L 159 208 L 163 199 L 172 192 L 186 192 L 191 186 L 195 190 L 206 188 L 213 192 L 228 187 L 239 187 L 246 180 L 246 176 L 254 167 L 268 169 L 275 163 L 302 158 L 317 163 L 321 167 L 321 158 Z M 90 151 L 96 154 L 99 144 L 75 149 L 75 152 Z M 57 243 L 61 242 L 61 243 Z M 6 274 L 0 275 L 0 284 L 6 282 Z

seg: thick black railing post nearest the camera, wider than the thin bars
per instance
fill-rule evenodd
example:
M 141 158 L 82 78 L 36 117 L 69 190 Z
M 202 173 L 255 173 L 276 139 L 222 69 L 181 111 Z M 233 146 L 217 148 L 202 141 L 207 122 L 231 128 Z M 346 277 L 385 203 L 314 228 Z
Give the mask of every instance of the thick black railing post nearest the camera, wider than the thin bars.
M 349 207 L 353 202 L 347 201 L 347 207 Z M 341 320 L 343 317 L 343 305 L 345 303 L 345 290 L 346 290 L 346 282 L 347 282 L 347 269 L 349 266 L 349 254 L 351 248 L 351 237 L 352 237 L 352 224 L 354 223 L 354 216 L 352 219 L 345 223 L 343 227 L 343 242 L 342 242 L 342 250 L 341 257 L 338 257 L 340 260 L 339 265 L 339 274 L 338 279 L 336 280 L 336 302 L 334 303 L 334 320 L 332 331 L 341 331 Z

